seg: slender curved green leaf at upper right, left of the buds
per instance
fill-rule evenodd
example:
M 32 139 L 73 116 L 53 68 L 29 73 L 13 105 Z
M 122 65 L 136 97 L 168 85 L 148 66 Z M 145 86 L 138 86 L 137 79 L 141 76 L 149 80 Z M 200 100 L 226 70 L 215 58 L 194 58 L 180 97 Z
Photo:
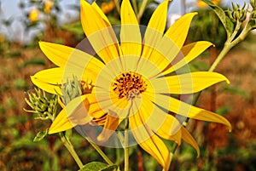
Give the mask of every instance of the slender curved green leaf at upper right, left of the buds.
M 222 24 L 224 25 L 224 28 L 227 32 L 227 36 L 230 37 L 234 31 L 234 23 L 230 20 L 230 18 L 225 14 L 224 10 L 218 7 L 218 5 L 215 5 L 210 0 L 202 0 L 203 2 L 207 3 L 215 12 L 215 14 L 218 15 L 219 20 L 221 20 Z

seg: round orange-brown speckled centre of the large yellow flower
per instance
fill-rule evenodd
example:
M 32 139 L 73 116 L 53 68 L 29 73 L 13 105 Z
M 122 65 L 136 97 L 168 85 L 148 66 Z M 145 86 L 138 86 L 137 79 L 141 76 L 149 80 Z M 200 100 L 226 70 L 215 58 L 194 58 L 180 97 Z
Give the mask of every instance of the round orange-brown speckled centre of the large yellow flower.
M 132 100 L 146 90 L 147 84 L 142 75 L 129 71 L 115 77 L 112 87 L 113 91 L 119 95 L 119 99 L 126 97 L 127 100 Z

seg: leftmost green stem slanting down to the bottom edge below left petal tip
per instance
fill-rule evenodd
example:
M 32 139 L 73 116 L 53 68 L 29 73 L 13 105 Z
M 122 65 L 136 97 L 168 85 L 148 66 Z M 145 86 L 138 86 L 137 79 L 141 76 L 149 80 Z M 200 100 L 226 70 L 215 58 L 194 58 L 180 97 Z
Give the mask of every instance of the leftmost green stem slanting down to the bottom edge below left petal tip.
M 63 145 L 66 146 L 67 150 L 70 152 L 70 154 L 73 157 L 73 159 L 75 160 L 75 162 L 77 162 L 77 164 L 79 165 L 79 168 L 83 168 L 84 164 L 83 164 L 83 162 L 81 162 L 78 154 L 73 149 L 73 145 L 70 142 L 70 140 L 67 139 L 67 137 L 65 136 L 64 133 L 60 133 L 59 135 L 60 135 L 60 138 L 61 138 L 61 142 L 63 143 Z

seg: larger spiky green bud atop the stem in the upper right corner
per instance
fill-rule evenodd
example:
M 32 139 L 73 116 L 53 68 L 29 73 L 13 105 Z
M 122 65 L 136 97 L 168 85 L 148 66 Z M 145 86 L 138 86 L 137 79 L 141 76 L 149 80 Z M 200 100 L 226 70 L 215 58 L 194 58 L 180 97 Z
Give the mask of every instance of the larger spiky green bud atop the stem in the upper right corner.
M 247 19 L 248 8 L 246 9 L 246 3 L 244 3 L 242 8 L 240 7 L 240 5 L 237 4 L 236 6 L 234 3 L 232 3 L 232 7 L 233 11 L 230 11 L 230 9 L 228 9 L 228 14 L 232 22 L 243 22 Z

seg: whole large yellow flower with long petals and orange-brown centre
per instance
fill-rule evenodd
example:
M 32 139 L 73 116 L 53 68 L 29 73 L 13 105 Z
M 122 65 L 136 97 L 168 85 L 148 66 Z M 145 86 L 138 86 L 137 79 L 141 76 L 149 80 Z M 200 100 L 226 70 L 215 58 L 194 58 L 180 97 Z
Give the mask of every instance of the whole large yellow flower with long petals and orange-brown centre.
M 50 126 L 49 134 L 79 125 L 102 125 L 96 142 L 104 142 L 128 119 L 129 133 L 137 144 L 168 170 L 170 152 L 160 138 L 174 140 L 178 145 L 183 139 L 199 154 L 195 140 L 182 126 L 186 117 L 222 123 L 231 129 L 224 117 L 170 95 L 183 97 L 183 94 L 194 94 L 212 84 L 229 81 L 216 72 L 182 72 L 189 61 L 212 43 L 201 41 L 183 46 L 196 13 L 185 14 L 164 32 L 167 7 L 168 1 L 165 1 L 155 9 L 143 33 L 131 3 L 123 0 L 118 38 L 96 3 L 90 5 L 82 0 L 81 22 L 96 57 L 76 48 L 39 43 L 57 67 L 32 76 L 35 85 L 51 94 L 61 94 L 60 85 L 65 84 L 62 80 L 75 76 L 82 83 L 91 82 L 90 91 L 64 106 Z M 177 114 L 176 117 L 169 111 Z

